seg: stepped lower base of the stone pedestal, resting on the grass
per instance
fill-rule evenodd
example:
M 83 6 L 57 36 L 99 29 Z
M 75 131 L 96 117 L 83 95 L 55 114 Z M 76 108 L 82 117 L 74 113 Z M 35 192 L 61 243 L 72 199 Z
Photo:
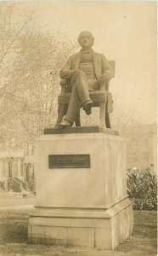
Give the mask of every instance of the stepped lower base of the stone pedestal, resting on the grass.
M 132 202 L 109 209 L 40 208 L 31 214 L 28 237 L 33 243 L 114 249 L 133 230 Z

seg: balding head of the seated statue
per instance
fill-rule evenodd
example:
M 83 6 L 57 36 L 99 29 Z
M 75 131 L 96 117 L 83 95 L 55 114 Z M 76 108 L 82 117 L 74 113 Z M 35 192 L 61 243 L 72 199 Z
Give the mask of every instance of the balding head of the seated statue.
M 93 41 L 94 37 L 91 32 L 82 31 L 78 36 L 78 43 L 82 46 L 82 48 L 92 47 Z

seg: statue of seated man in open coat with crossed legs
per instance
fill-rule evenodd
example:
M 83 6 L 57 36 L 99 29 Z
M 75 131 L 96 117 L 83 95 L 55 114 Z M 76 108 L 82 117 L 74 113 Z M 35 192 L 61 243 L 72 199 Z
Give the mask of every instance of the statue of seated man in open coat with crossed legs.
M 71 88 L 71 98 L 65 119 L 60 127 L 72 126 L 81 104 L 87 114 L 91 113 L 93 102 L 89 91 L 99 90 L 101 84 L 112 78 L 111 67 L 104 55 L 93 51 L 93 35 L 83 31 L 78 37 L 82 49 L 72 55 L 60 71 L 60 78 L 66 79 Z

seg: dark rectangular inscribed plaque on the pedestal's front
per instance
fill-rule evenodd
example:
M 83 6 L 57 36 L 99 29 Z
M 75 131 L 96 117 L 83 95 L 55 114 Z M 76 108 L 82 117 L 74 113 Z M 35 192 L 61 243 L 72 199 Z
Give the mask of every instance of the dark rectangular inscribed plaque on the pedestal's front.
M 51 154 L 48 155 L 48 167 L 54 168 L 90 168 L 89 154 Z

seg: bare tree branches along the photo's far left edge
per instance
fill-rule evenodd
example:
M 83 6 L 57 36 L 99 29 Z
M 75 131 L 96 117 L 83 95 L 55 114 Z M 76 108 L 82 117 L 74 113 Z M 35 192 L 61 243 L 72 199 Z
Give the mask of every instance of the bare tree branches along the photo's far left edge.
M 13 115 L 8 111 L 6 103 L 10 98 L 9 82 L 14 61 L 19 55 L 18 40 L 31 22 L 33 13 L 31 10 L 25 15 L 16 3 L 0 3 L 0 133 L 3 136 L 9 136 L 12 130 L 6 119 L 11 119 Z

